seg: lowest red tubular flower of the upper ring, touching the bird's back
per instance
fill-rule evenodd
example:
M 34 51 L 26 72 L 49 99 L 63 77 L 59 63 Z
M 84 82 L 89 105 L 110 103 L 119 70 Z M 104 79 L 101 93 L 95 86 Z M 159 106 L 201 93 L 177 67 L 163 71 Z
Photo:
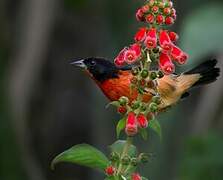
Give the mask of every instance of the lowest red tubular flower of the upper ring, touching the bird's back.
M 172 63 L 170 57 L 164 53 L 161 53 L 160 55 L 159 66 L 166 75 L 172 74 L 175 71 L 175 66 Z

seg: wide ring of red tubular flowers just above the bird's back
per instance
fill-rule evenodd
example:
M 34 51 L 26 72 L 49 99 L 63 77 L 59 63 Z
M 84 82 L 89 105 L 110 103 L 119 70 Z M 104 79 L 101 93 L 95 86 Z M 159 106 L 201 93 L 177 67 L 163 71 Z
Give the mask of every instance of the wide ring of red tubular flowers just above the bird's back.
M 179 36 L 173 31 L 142 27 L 135 34 L 135 44 L 124 48 L 114 62 L 117 66 L 123 66 L 125 63 L 133 64 L 149 53 L 156 59 L 159 57 L 157 60 L 163 73 L 172 74 L 175 70 L 172 60 L 182 65 L 188 59 L 188 55 L 175 45 L 178 38 Z

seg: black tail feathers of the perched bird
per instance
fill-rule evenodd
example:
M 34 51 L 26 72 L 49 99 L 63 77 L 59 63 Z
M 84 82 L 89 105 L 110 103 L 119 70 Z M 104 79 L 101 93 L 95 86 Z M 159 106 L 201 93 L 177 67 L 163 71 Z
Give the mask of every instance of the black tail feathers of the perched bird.
M 217 80 L 220 75 L 220 68 L 216 67 L 217 60 L 208 60 L 185 74 L 200 74 L 201 78 L 193 86 L 209 84 Z

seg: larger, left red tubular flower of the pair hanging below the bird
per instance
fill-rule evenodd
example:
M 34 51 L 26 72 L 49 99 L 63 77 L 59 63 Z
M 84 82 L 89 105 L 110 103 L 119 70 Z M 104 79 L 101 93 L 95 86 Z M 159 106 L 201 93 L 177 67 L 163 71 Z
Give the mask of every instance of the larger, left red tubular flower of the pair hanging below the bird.
M 134 136 L 138 132 L 137 121 L 134 112 L 130 112 L 128 114 L 125 132 L 128 136 Z

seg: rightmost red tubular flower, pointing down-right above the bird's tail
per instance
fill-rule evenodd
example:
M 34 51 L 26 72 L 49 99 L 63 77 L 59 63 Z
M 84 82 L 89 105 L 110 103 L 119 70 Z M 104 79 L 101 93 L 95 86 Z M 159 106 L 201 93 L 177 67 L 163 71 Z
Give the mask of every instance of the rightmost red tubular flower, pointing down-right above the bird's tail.
M 188 59 L 188 55 L 177 46 L 173 46 L 171 56 L 173 60 L 177 61 L 179 64 L 185 64 Z

